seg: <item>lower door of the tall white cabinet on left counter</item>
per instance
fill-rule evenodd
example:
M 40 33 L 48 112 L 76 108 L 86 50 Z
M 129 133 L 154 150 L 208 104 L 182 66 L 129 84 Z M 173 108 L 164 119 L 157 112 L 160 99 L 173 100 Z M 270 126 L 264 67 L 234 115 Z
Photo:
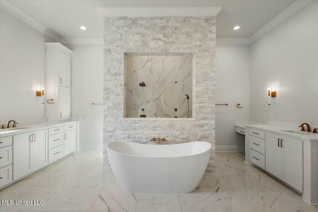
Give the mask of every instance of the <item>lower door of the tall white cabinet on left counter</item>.
M 59 86 L 59 119 L 71 117 L 71 88 Z

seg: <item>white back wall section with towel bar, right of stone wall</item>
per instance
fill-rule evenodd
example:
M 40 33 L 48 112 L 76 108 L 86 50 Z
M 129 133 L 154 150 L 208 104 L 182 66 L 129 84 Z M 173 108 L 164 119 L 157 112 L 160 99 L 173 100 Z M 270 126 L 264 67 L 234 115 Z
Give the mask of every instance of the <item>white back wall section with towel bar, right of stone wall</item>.
M 249 121 L 249 45 L 216 46 L 216 151 L 244 151 L 235 121 Z M 243 108 L 237 108 L 240 103 Z

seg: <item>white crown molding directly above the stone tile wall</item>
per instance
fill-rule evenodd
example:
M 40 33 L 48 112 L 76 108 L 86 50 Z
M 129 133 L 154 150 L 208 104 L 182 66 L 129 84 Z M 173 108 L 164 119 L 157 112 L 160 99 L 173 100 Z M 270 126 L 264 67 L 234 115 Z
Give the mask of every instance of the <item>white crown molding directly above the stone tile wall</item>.
M 107 17 L 217 16 L 223 7 L 97 7 Z

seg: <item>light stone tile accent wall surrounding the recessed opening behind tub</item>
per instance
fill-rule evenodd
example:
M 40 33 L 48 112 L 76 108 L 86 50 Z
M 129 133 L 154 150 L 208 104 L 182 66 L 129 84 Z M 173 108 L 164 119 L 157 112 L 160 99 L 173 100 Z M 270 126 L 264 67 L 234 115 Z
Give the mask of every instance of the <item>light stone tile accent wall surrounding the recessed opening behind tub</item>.
M 215 171 L 216 17 L 104 17 L 103 168 L 110 168 L 106 143 L 208 141 L 207 171 Z M 192 119 L 124 117 L 124 53 L 192 53 Z

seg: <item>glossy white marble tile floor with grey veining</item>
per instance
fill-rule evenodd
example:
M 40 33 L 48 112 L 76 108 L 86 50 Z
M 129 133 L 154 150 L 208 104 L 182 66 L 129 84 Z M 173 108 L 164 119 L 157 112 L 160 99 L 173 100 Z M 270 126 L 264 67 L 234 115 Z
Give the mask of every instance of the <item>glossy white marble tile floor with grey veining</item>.
M 192 193 L 137 194 L 123 191 L 111 171 L 101 170 L 102 152 L 82 151 L 0 191 L 1 201 L 43 205 L 1 203 L 0 212 L 318 212 L 243 160 L 242 153 L 217 152 L 217 172 L 205 173 Z

